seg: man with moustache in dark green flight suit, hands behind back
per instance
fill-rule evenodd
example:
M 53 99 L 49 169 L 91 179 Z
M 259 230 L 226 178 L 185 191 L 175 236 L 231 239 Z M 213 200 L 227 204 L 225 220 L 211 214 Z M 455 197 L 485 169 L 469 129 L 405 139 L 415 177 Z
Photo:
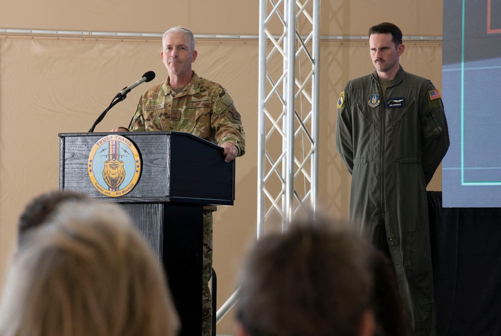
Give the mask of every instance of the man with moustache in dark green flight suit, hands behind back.
M 391 258 L 416 335 L 436 334 L 426 185 L 449 147 L 440 92 L 405 72 L 402 32 L 369 29 L 376 70 L 348 82 L 338 100 L 336 148 L 353 175 L 350 216 Z

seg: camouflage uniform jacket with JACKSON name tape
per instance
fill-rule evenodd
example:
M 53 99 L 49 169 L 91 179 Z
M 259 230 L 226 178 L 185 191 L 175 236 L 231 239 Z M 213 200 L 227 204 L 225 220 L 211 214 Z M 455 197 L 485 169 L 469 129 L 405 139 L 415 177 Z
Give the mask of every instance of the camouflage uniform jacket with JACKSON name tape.
M 245 133 L 233 99 L 218 83 L 199 77 L 176 93 L 169 78 L 148 88 L 139 98 L 129 130 L 176 130 L 215 144 L 230 142 L 245 153 Z

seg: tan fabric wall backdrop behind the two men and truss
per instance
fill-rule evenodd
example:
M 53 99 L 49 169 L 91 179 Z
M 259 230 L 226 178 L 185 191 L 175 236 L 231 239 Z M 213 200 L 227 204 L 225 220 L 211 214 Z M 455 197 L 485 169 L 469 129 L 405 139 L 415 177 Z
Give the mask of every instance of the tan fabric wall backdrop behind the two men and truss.
M 163 32 L 182 24 L 200 34 L 258 34 L 257 0 L 218 0 L 210 8 L 202 0 L 153 2 L 148 8 L 132 1 L 127 6 L 97 0 L 5 2 L 3 8 L 8 10 L 0 12 L 4 25 L 0 28 Z M 323 1 L 322 35 L 365 35 L 369 25 L 388 20 L 399 25 L 404 35 L 441 36 L 441 3 L 439 8 L 427 9 L 433 5 L 431 0 L 385 1 L 377 6 L 362 0 Z M 116 14 L 110 15 L 113 10 Z M 441 41 L 405 44 L 402 66 L 441 89 Z M 195 71 L 228 90 L 242 115 L 247 142 L 247 153 L 236 161 L 235 205 L 219 207 L 214 213 L 220 306 L 234 290 L 245 247 L 256 237 L 258 43 L 199 39 L 196 48 Z M 167 76 L 160 49 L 161 41 L 155 38 L 0 34 L 0 278 L 15 246 L 21 210 L 33 196 L 59 187 L 58 133 L 86 132 L 118 91 L 144 72 L 155 71 L 156 78 L 131 91 L 96 131 L 126 126 L 141 92 Z M 347 216 L 351 176 L 334 147 L 336 102 L 349 79 L 373 71 L 367 40 L 324 40 L 320 67 L 319 199 L 329 215 Z M 429 188 L 441 190 L 440 171 Z M 218 333 L 232 333 L 232 317 L 230 312 L 217 325 Z

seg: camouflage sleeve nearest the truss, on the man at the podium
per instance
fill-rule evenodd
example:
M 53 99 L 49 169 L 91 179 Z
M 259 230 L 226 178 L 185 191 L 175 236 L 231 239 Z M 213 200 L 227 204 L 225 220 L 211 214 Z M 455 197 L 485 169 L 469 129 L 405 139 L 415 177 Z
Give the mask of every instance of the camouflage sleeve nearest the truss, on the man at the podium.
M 238 156 L 245 153 L 245 133 L 241 116 L 225 89 L 222 89 L 214 100 L 210 124 L 218 144 L 230 142 L 238 148 Z

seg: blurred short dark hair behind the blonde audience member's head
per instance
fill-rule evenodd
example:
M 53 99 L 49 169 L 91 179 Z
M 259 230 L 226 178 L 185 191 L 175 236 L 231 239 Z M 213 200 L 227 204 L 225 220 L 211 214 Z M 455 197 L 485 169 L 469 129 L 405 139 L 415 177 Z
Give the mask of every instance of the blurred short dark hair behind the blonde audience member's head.
M 85 193 L 55 190 L 33 198 L 24 208 L 18 224 L 18 248 L 23 249 L 32 240 L 34 229 L 40 227 L 54 214 L 62 203 L 90 199 Z

